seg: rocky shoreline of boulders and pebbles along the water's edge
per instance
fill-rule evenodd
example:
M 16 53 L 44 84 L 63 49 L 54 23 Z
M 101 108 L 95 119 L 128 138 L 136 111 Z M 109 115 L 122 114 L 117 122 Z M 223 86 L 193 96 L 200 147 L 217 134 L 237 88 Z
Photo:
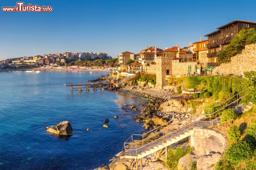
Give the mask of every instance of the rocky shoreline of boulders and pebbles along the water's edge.
M 101 76 L 95 80 L 90 80 L 90 82 L 94 81 L 107 81 L 110 82 L 111 80 L 115 79 L 113 75 L 110 76 Z M 146 82 L 147 83 L 147 82 Z M 145 103 L 145 107 L 141 111 L 140 114 L 135 116 L 135 122 L 145 122 L 143 127 L 146 130 L 157 128 L 163 124 L 166 124 L 169 121 L 175 119 L 172 123 L 177 123 L 177 121 L 185 119 L 189 116 L 189 114 L 183 114 L 184 112 L 184 104 L 175 103 L 172 97 L 177 97 L 179 95 L 175 94 L 175 92 L 170 90 L 158 90 L 152 87 L 148 87 L 144 85 L 143 87 L 134 84 L 132 81 L 123 83 L 121 87 L 116 87 L 117 89 L 127 91 L 136 95 L 139 95 L 143 98 L 148 98 L 149 100 Z M 166 93 L 168 92 L 168 93 Z M 179 106 L 180 105 L 180 106 Z M 175 107 L 176 110 L 171 109 L 170 107 Z M 136 106 L 130 106 L 131 110 L 136 111 Z M 163 128 L 165 126 L 161 126 Z M 159 128 L 159 129 L 161 129 Z M 153 133 L 154 134 L 154 133 Z M 148 134 L 148 136 L 152 135 Z M 158 138 L 159 136 L 155 135 L 154 138 Z M 154 138 L 149 138 L 148 141 L 150 142 L 154 140 Z M 181 142 L 184 144 L 184 142 Z M 181 144 L 179 142 L 179 144 Z M 186 143 L 185 143 L 186 145 Z M 116 154 L 110 161 L 109 165 L 103 166 L 101 170 L 117 170 L 117 169 L 136 169 L 135 160 L 134 159 L 120 159 L 120 156 L 123 152 Z M 158 155 L 160 154 L 160 155 Z M 156 158 L 158 157 L 157 161 Z M 158 153 L 155 152 L 151 155 L 146 156 L 142 159 L 143 169 L 168 169 L 164 166 L 163 161 L 165 159 L 164 152 Z

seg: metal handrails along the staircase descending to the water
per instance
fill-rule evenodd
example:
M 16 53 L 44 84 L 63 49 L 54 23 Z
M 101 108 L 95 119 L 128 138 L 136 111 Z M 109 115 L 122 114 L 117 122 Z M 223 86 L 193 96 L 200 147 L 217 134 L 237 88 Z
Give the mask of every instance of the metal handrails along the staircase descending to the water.
M 247 88 L 247 89 L 245 89 L 245 90 L 239 92 L 238 94 L 240 94 L 240 93 L 242 93 L 242 92 L 244 92 L 244 91 L 246 91 L 246 90 L 248 90 L 248 89 L 249 89 L 249 88 Z M 243 95 L 242 97 L 238 98 L 238 94 L 236 94 L 236 95 L 230 97 L 230 98 L 234 98 L 235 96 L 237 96 L 237 99 L 234 100 L 234 101 L 232 101 L 231 103 L 234 103 L 234 102 L 236 103 L 236 102 L 237 102 L 237 104 L 238 104 L 238 101 L 247 95 L 247 94 L 245 94 L 245 95 Z M 228 98 L 227 100 L 229 100 L 230 98 Z M 219 103 L 219 104 L 222 104 L 222 103 L 226 102 L 227 100 L 225 100 L 225 101 L 223 101 L 223 102 L 221 102 L 221 103 Z M 217 110 L 217 111 L 215 111 L 215 112 L 213 112 L 213 113 L 210 113 L 210 111 L 209 111 L 209 114 L 197 114 L 197 113 L 196 113 L 196 114 L 192 114 L 192 113 L 193 113 L 192 111 L 195 110 L 195 109 L 209 109 L 209 110 L 210 110 L 210 109 L 212 109 L 212 108 L 218 106 L 219 104 L 216 105 L 216 106 L 214 106 L 214 107 L 212 107 L 212 108 L 195 108 L 195 109 L 193 109 L 193 110 L 187 112 L 187 113 L 190 113 L 190 112 L 191 112 L 191 115 L 190 115 L 189 117 L 187 117 L 187 118 L 185 118 L 185 119 L 183 119 L 183 120 L 181 120 L 181 121 L 179 121 L 179 122 L 177 122 L 177 123 L 175 123 L 175 124 L 173 124 L 173 125 L 171 125 L 171 126 L 168 127 L 168 123 L 171 122 L 171 121 L 169 121 L 169 122 L 163 124 L 163 125 L 167 125 L 167 128 L 163 128 L 162 130 L 158 131 L 157 133 L 155 133 L 155 134 L 153 134 L 153 135 L 151 135 L 151 136 L 148 136 L 148 137 L 146 137 L 146 138 L 143 138 L 143 136 L 144 136 L 145 134 L 148 134 L 149 132 L 155 131 L 155 130 L 158 129 L 159 127 L 163 126 L 163 125 L 161 125 L 161 126 L 155 128 L 155 129 L 153 129 L 153 130 L 151 130 L 151 131 L 149 131 L 149 132 L 147 132 L 147 133 L 145 133 L 145 134 L 143 134 L 143 135 L 139 135 L 139 136 L 142 136 L 142 140 L 132 140 L 132 142 L 124 142 L 124 146 L 123 146 L 123 147 L 124 147 L 125 150 L 134 150 L 134 149 L 126 149 L 126 147 L 129 147 L 130 145 L 134 145 L 134 144 L 135 144 L 135 145 L 136 145 L 136 156 L 137 156 L 137 150 L 138 150 L 138 149 L 141 149 L 141 148 L 143 148 L 143 147 L 145 147 L 145 146 L 147 146 L 147 145 L 149 145 L 149 144 L 151 144 L 151 143 L 153 143 L 153 142 L 155 142 L 155 141 L 157 141 L 157 140 L 159 140 L 159 139 L 162 139 L 162 138 L 163 138 L 163 142 L 164 142 L 164 132 L 165 132 L 165 131 L 167 131 L 167 134 L 165 134 L 165 135 L 170 135 L 170 134 L 176 132 L 177 130 L 180 130 L 180 129 L 182 129 L 182 128 L 188 126 L 188 125 L 190 125 L 190 128 L 189 128 L 189 129 L 191 130 L 191 123 L 193 123 L 193 126 L 194 126 L 194 122 L 210 122 L 210 125 L 213 125 L 213 121 L 215 121 L 216 119 L 221 118 L 221 116 L 219 116 L 219 117 L 217 117 L 216 119 L 213 119 L 213 120 L 212 120 L 212 119 L 211 119 L 211 115 L 213 115 L 213 114 L 219 112 L 219 111 L 222 110 L 223 108 L 226 108 L 226 107 L 229 106 L 231 103 L 227 104 L 226 106 L 222 107 L 221 109 L 219 109 L 219 110 Z M 198 120 L 198 121 L 197 121 L 197 120 L 193 120 L 193 121 L 192 121 L 192 117 L 194 117 L 195 115 L 208 115 L 208 119 L 209 119 L 209 120 L 208 120 L 208 121 L 205 121 L 205 120 Z M 179 117 L 180 117 L 180 116 L 179 116 Z M 177 118 L 179 118 L 179 117 L 177 117 Z M 177 118 L 176 118 L 176 119 L 177 119 Z M 174 130 L 174 131 L 168 133 L 168 129 L 169 129 L 169 128 L 171 128 L 171 127 L 173 127 L 173 126 L 175 126 L 175 125 L 177 125 L 177 124 L 179 124 L 179 123 L 182 123 L 182 122 L 184 122 L 184 121 L 186 121 L 186 120 L 188 120 L 188 119 L 190 120 L 189 124 L 187 124 L 187 125 L 185 125 L 185 126 L 183 126 L 183 127 L 181 127 L 181 128 L 177 128 L 176 130 Z M 175 120 L 175 119 L 174 119 L 174 120 Z M 172 120 L 172 121 L 174 121 L 174 120 Z M 158 135 L 158 134 L 160 134 L 160 133 L 163 133 L 163 136 L 162 136 L 162 137 L 160 137 L 160 138 L 158 138 L 158 139 L 156 139 L 156 140 L 153 140 L 152 142 L 149 142 L 149 143 L 147 143 L 146 145 L 144 145 L 144 141 L 145 141 L 145 140 L 147 140 L 147 139 L 149 139 L 149 138 L 152 138 L 152 137 L 154 137 L 154 136 L 156 136 L 156 135 Z M 136 134 L 136 135 L 137 135 L 137 134 Z M 132 136 L 133 136 L 133 135 L 131 135 L 131 137 L 132 137 Z M 129 137 L 129 138 L 130 138 L 130 137 Z M 129 138 L 128 138 L 128 139 L 129 139 Z M 126 141 L 127 141 L 127 140 L 126 140 Z M 137 141 L 137 142 L 133 142 L 133 141 Z M 137 149 L 137 144 L 139 144 L 140 142 L 142 142 L 142 146 Z M 125 146 L 125 144 L 128 144 L 128 145 Z M 126 154 L 126 152 L 125 152 L 125 154 Z

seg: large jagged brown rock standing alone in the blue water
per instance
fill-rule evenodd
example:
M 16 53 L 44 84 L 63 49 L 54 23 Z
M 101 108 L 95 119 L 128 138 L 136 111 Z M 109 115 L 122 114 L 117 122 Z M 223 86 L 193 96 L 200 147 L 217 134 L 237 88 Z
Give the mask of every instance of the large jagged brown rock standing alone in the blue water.
M 73 129 L 69 121 L 63 121 L 58 123 L 57 125 L 53 125 L 51 127 L 46 127 L 47 132 L 51 132 L 58 135 L 72 135 Z

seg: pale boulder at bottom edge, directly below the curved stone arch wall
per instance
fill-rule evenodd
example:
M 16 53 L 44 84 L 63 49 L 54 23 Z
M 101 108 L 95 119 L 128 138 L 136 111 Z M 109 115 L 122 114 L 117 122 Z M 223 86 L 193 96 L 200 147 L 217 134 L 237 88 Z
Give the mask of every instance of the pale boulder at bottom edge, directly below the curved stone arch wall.
M 220 160 L 220 158 L 220 153 L 204 155 L 197 160 L 196 167 L 198 170 L 213 170 L 215 168 L 215 164 Z

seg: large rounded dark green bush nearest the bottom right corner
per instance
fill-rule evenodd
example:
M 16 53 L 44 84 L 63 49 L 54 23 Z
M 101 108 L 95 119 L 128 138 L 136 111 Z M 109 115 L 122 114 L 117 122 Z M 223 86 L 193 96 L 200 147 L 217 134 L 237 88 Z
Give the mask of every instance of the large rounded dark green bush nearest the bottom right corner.
M 252 144 L 247 141 L 238 141 L 231 144 L 226 150 L 226 159 L 238 163 L 241 161 L 247 161 L 252 155 Z

